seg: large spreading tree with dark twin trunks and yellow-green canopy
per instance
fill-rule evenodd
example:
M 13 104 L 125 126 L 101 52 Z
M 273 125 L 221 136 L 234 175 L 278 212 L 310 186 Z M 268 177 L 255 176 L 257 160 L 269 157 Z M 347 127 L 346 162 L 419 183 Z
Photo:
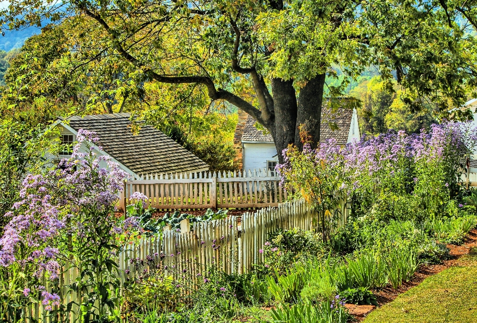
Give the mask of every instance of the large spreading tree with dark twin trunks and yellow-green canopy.
M 476 1 L 13 0 L 2 15 L 8 28 L 86 21 L 89 45 L 70 48 L 81 60 L 116 59 L 146 81 L 197 84 L 251 115 L 279 152 L 300 146 L 299 128 L 317 143 L 323 93 L 332 106 L 369 67 L 390 88 L 395 73 L 410 109 L 463 106 L 477 81 Z M 335 67 L 342 86 L 327 86 Z

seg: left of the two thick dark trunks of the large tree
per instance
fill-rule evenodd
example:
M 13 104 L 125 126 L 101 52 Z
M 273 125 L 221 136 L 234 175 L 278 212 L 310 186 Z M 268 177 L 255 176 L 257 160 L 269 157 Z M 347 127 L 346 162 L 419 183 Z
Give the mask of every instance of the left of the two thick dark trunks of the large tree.
M 297 96 L 293 80 L 272 79 L 275 129 L 269 129 L 275 142 L 278 161 L 283 163 L 282 151 L 295 142 L 297 125 Z M 273 127 L 272 127 L 273 128 Z M 274 130 L 274 131 L 273 131 Z

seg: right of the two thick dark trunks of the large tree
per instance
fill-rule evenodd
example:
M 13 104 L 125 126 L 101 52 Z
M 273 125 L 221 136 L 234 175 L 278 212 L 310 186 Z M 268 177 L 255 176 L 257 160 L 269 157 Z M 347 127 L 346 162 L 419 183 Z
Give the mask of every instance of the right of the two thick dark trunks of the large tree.
M 324 74 L 319 74 L 308 81 L 300 90 L 295 127 L 295 145 L 300 150 L 303 149 L 303 143 L 300 139 L 301 125 L 303 125 L 302 129 L 310 136 L 312 147 L 316 148 L 319 143 L 324 78 Z

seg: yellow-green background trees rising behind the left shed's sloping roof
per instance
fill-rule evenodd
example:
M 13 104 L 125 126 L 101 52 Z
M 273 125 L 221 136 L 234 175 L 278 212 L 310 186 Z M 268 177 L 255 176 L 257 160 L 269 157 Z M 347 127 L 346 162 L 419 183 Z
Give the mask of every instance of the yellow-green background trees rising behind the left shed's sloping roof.
M 2 118 L 45 125 L 58 116 L 131 112 L 133 121 L 145 121 L 171 135 L 212 170 L 237 168 L 236 115 L 224 104 L 211 103 L 194 84 L 149 82 L 100 51 L 95 59 L 83 60 L 79 44 L 89 50 L 94 46 L 87 39 L 78 41 L 85 26 L 87 22 L 66 20 L 26 41 L 5 77 Z

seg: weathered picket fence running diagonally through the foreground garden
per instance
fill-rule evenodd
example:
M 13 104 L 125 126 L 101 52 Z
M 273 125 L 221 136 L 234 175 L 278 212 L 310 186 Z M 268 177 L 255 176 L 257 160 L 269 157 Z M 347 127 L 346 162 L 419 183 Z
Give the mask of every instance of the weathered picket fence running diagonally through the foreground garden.
M 167 275 L 176 278 L 184 276 L 191 284 L 203 279 L 203 274 L 210 267 L 216 267 L 228 274 L 242 274 L 250 271 L 254 264 L 264 260 L 261 252 L 267 235 L 278 229 L 300 228 L 320 232 L 323 225 L 333 231 L 343 226 L 349 215 L 345 199 L 338 206 L 333 217 L 321 219 L 314 209 L 303 200 L 280 203 L 278 207 L 267 207 L 255 212 L 246 212 L 241 217 L 228 217 L 209 222 L 195 222 L 192 226 L 187 220 L 181 222 L 181 230 L 167 230 L 161 235 L 142 239 L 138 244 L 131 244 L 119 256 L 120 279 L 144 274 L 144 270 L 154 270 L 159 266 Z M 167 268 L 167 269 L 166 269 Z M 74 300 L 79 302 L 79 295 L 70 290 L 78 278 L 77 269 L 70 269 L 61 274 L 60 296 L 67 304 Z M 51 291 L 45 280 L 44 286 Z M 123 291 L 121 291 L 122 293 Z M 73 307 L 75 311 L 76 306 Z M 29 306 L 25 313 L 38 320 L 53 322 L 47 317 L 44 307 L 39 304 Z M 75 322 L 73 315 L 63 322 Z M 26 320 L 26 322 L 34 322 Z

